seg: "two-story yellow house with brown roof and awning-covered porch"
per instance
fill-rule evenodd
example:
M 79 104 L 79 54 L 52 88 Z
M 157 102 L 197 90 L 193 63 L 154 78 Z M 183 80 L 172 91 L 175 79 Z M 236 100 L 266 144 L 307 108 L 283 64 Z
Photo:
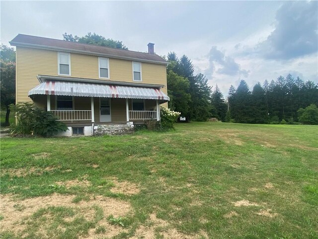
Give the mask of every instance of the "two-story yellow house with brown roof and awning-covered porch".
M 34 102 L 67 123 L 64 135 L 160 120 L 167 62 L 148 53 L 18 34 L 16 103 Z

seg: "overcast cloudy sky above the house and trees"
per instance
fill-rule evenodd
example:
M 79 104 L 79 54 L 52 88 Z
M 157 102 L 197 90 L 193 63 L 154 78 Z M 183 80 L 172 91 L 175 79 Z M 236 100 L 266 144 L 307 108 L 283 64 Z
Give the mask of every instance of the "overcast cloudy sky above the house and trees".
M 318 82 L 318 1 L 0 1 L 1 43 L 18 33 L 96 32 L 130 49 L 187 55 L 227 95 L 288 73 Z

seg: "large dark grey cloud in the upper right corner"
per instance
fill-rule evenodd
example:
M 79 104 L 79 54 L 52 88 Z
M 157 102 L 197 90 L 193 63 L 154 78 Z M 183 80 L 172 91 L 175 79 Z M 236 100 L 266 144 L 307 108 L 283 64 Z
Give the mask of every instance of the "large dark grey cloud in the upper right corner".
M 318 1 L 285 2 L 276 12 L 275 29 L 257 51 L 265 59 L 290 60 L 318 51 Z

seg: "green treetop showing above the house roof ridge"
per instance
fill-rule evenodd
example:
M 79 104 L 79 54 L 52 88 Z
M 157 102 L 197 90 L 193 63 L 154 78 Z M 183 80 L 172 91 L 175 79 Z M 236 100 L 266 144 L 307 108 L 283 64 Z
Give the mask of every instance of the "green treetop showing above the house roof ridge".
M 99 45 L 99 46 L 108 46 L 118 49 L 128 50 L 128 48 L 123 44 L 122 41 L 113 40 L 110 38 L 105 38 L 104 36 L 97 35 L 95 32 L 88 32 L 85 36 L 73 36 L 72 34 L 63 34 L 63 39 L 65 41 L 79 42 L 85 44 Z

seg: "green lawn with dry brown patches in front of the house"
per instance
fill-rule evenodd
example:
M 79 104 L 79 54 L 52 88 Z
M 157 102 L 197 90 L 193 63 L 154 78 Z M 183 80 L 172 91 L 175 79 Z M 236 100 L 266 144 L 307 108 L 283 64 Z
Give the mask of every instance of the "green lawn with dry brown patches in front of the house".
M 1 139 L 1 238 L 318 238 L 318 127 Z

